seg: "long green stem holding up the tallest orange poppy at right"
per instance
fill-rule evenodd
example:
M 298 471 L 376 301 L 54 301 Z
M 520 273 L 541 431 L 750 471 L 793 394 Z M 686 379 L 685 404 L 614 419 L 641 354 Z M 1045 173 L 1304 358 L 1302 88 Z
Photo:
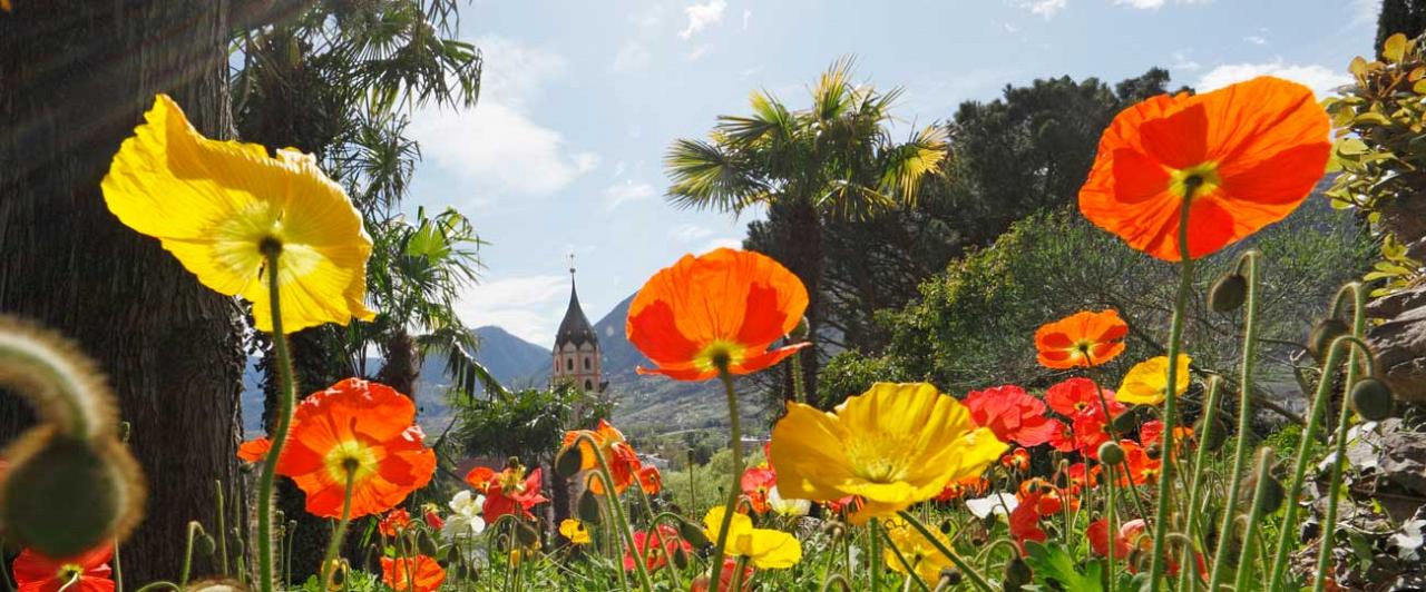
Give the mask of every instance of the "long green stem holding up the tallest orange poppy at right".
M 1164 387 L 1164 467 L 1159 474 L 1158 508 L 1154 511 L 1154 558 L 1149 564 L 1149 592 L 1158 592 L 1164 576 L 1165 539 L 1168 536 L 1168 507 L 1172 505 L 1174 495 L 1174 427 L 1178 423 L 1178 354 L 1182 350 L 1184 317 L 1188 313 L 1188 295 L 1194 290 L 1194 258 L 1188 252 L 1188 212 L 1194 202 L 1194 192 L 1201 181 L 1191 176 L 1184 184 L 1184 204 L 1178 213 L 1178 256 L 1179 263 L 1178 297 L 1174 300 L 1174 320 L 1168 334 L 1168 383 Z

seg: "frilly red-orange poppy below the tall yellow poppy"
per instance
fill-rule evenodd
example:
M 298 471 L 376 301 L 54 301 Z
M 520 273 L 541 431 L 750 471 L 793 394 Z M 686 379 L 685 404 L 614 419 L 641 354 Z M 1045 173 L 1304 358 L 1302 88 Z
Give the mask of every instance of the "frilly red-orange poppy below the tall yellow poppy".
M 292 414 L 277 472 L 307 492 L 307 511 L 338 518 L 352 480 L 352 518 L 381 514 L 431 481 L 436 454 L 414 426 L 416 407 L 385 384 L 347 379 Z

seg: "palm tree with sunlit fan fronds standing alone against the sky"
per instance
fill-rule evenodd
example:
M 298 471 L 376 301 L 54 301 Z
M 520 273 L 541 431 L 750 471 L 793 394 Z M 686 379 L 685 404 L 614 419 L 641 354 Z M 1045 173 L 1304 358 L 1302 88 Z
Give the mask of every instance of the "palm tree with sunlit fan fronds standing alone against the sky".
M 789 221 L 781 252 L 769 255 L 807 286 L 813 340 L 821 326 L 823 225 L 914 205 L 921 181 L 940 172 L 945 158 L 938 125 L 894 141 L 888 125 L 901 90 L 856 84 L 853 65 L 841 58 L 827 68 L 811 88 L 810 108 L 793 111 L 757 91 L 750 115 L 719 115 L 707 139 L 677 139 L 665 157 L 673 205 L 734 215 L 761 205 Z M 806 359 L 804 380 L 814 393 L 817 356 Z

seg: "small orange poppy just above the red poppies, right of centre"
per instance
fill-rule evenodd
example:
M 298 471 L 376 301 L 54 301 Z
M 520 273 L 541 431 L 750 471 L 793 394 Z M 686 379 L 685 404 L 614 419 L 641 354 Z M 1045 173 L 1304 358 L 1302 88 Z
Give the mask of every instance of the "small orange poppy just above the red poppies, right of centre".
M 1055 370 L 1099 366 L 1124 353 L 1129 326 L 1114 309 L 1078 312 L 1035 330 L 1040 366 Z

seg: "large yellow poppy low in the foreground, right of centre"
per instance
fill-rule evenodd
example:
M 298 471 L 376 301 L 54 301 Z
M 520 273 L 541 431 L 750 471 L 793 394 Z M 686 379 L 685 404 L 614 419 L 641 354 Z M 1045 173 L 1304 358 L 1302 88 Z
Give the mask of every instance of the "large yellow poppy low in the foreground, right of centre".
M 947 482 L 985 471 L 1008 445 L 975 426 L 970 410 L 927 383 L 877 383 L 834 413 L 800 403 L 773 428 L 781 495 L 864 500 L 851 521 L 896 514 Z

